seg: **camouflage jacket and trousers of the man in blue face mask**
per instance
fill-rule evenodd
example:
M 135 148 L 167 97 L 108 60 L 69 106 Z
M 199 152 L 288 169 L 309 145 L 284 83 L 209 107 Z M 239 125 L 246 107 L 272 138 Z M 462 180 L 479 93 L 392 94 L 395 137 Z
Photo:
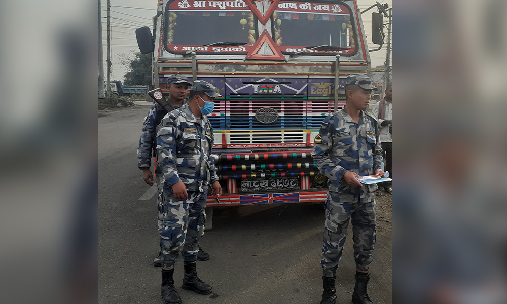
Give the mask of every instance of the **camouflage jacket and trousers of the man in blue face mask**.
M 195 261 L 197 240 L 204 234 L 208 185 L 218 181 L 213 158 L 213 131 L 208 118 L 196 118 L 188 104 L 164 117 L 157 133 L 159 165 L 164 178 L 164 228 L 160 236 L 162 267 L 171 268 L 183 247 L 184 261 Z M 188 199 L 174 197 L 182 181 Z

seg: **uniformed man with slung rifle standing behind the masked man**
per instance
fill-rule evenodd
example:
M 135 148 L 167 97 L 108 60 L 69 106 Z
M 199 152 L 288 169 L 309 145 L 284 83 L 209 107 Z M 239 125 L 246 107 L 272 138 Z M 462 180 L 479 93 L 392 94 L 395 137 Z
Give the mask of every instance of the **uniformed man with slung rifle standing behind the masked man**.
M 185 103 L 185 98 L 187 97 L 188 87 L 191 83 L 187 80 L 187 77 L 184 75 L 173 74 L 168 78 L 168 90 L 169 90 L 169 107 L 173 110 L 180 108 Z M 144 182 L 153 186 L 153 174 L 150 170 L 151 166 L 151 158 L 152 153 L 155 158 L 155 178 L 158 187 L 158 197 L 157 197 L 157 208 L 159 211 L 158 215 L 158 232 L 162 231 L 162 223 L 164 220 L 163 217 L 163 206 L 162 206 L 162 174 L 160 174 L 160 170 L 157 167 L 157 150 L 156 150 L 156 136 L 157 136 L 157 126 L 162 121 L 162 118 L 167 114 L 167 111 L 161 107 L 158 103 L 153 105 L 148 111 L 148 116 L 144 118 L 144 123 L 142 126 L 142 133 L 139 139 L 139 146 L 137 148 L 137 167 L 143 171 L 142 179 Z M 209 255 L 204 252 L 202 249 L 199 251 L 197 256 L 199 260 L 208 260 Z M 160 251 L 158 255 L 153 260 L 153 265 L 155 267 L 160 267 L 162 265 Z

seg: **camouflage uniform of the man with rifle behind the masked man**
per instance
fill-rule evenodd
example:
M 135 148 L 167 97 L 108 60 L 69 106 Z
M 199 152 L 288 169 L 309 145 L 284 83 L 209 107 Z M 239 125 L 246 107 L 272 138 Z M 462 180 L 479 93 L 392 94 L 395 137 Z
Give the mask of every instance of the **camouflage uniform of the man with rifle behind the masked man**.
M 172 79 L 177 79 L 177 81 L 182 82 L 183 77 L 180 75 L 171 75 L 168 81 L 172 81 Z M 186 78 L 185 78 L 186 79 Z M 190 83 L 189 83 L 190 84 Z M 183 101 L 183 104 L 186 103 L 186 100 Z M 167 102 L 169 107 L 173 110 L 182 107 L 173 106 L 170 102 Z M 139 169 L 150 168 L 152 155 L 154 157 L 154 170 L 155 170 L 155 182 L 157 183 L 158 195 L 157 195 L 157 209 L 159 211 L 157 218 L 157 232 L 162 231 L 163 227 L 163 204 L 162 204 L 162 185 L 163 185 L 163 176 L 160 172 L 159 166 L 157 166 L 157 131 L 160 122 L 167 114 L 167 111 L 161 107 L 159 104 L 153 105 L 148 111 L 148 115 L 144 117 L 144 122 L 142 124 L 142 132 L 141 137 L 139 138 L 139 145 L 137 147 L 137 167 Z

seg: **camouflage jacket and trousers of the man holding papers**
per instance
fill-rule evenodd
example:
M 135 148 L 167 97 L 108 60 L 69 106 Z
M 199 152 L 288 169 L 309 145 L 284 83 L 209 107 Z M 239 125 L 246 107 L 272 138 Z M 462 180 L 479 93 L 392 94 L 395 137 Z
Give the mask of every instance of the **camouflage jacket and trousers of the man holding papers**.
M 377 122 L 361 111 L 359 123 L 341 109 L 325 118 L 320 127 L 320 143 L 315 144 L 313 160 L 328 177 L 328 199 L 321 265 L 325 277 L 335 277 L 352 217 L 354 258 L 357 270 L 366 271 L 373 260 L 376 239 L 376 184 L 351 187 L 343 179 L 347 171 L 361 176 L 384 168 Z

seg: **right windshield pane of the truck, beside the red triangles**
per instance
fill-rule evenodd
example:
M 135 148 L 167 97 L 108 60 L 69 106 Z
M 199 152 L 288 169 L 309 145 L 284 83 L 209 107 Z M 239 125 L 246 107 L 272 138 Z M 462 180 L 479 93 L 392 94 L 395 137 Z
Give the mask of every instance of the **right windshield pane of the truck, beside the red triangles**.
M 280 1 L 272 20 L 273 37 L 282 52 L 330 45 L 348 49 L 311 50 L 308 54 L 355 53 L 355 27 L 349 8 L 344 4 Z

